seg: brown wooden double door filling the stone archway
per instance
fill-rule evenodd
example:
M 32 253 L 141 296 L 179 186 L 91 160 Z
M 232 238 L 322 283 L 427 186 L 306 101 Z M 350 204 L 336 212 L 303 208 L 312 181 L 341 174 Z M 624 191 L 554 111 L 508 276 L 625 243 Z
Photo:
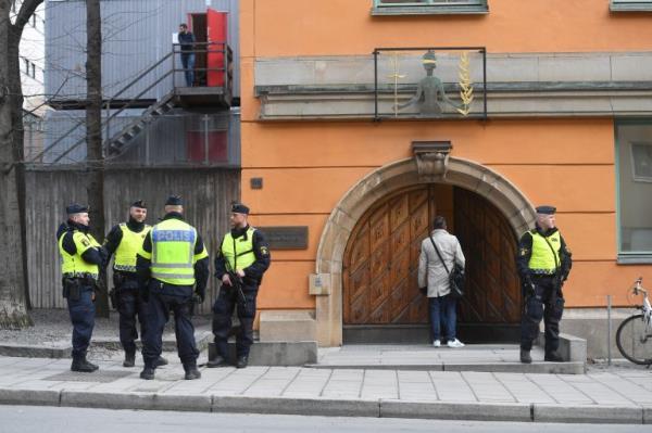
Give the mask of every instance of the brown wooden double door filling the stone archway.
M 518 322 L 516 239 L 506 219 L 474 192 L 428 184 L 389 195 L 355 226 L 344 252 L 344 326 L 428 323 L 417 268 L 421 243 L 436 215 L 447 217 L 466 256 L 467 286 L 459 322 Z

